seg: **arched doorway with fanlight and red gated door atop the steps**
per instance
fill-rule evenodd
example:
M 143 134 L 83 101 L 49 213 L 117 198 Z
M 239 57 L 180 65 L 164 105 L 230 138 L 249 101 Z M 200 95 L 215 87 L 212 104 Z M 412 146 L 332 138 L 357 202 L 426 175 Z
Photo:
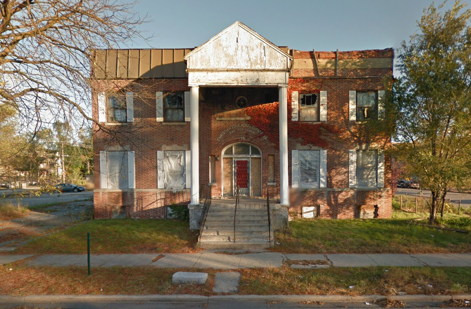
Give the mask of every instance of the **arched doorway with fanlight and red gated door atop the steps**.
M 262 196 L 262 152 L 252 144 L 237 143 L 222 150 L 222 195 Z

